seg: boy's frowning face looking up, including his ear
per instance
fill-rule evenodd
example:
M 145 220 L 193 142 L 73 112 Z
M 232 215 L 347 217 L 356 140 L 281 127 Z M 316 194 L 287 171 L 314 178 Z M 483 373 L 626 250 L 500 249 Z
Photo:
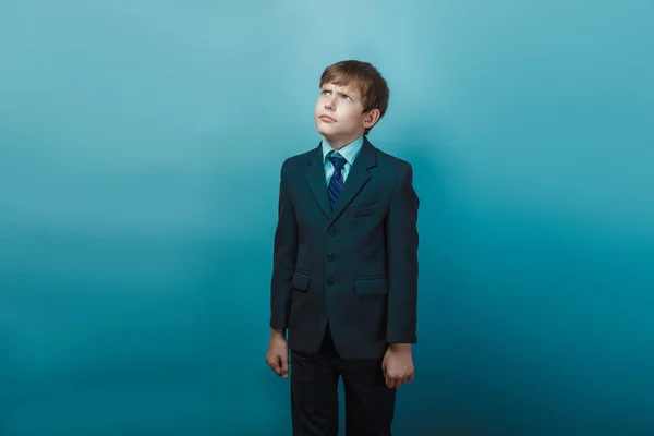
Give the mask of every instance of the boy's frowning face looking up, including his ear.
M 340 148 L 356 140 L 377 119 L 377 109 L 363 112 L 361 92 L 356 86 L 326 83 L 320 88 L 314 121 L 332 147 Z

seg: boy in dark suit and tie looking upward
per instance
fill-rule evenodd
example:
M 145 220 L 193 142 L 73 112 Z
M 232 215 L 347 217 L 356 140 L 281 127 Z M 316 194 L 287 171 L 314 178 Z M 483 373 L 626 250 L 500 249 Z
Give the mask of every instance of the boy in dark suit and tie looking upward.
M 389 90 L 366 62 L 320 77 L 318 147 L 281 167 L 266 361 L 288 378 L 293 435 L 390 435 L 396 389 L 413 379 L 417 207 L 412 167 L 367 134 Z M 288 342 L 286 334 L 288 330 Z

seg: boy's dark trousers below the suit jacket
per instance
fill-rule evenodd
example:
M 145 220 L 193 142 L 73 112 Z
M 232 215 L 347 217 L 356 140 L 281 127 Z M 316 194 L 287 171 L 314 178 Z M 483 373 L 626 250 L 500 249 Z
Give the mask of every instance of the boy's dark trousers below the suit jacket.
M 316 354 L 291 351 L 294 436 L 338 435 L 338 382 L 343 378 L 348 436 L 390 436 L 396 389 L 386 387 L 382 359 L 341 359 L 329 328 Z

